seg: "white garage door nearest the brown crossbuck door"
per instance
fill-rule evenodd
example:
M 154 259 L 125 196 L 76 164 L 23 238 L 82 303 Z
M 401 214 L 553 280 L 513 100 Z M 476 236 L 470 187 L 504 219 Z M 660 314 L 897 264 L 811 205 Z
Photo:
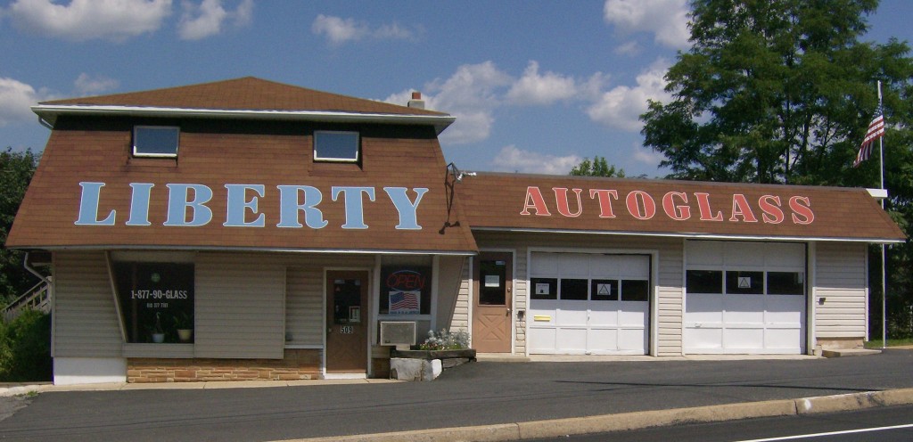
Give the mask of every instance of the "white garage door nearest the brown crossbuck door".
M 650 257 L 534 252 L 530 353 L 645 354 Z

